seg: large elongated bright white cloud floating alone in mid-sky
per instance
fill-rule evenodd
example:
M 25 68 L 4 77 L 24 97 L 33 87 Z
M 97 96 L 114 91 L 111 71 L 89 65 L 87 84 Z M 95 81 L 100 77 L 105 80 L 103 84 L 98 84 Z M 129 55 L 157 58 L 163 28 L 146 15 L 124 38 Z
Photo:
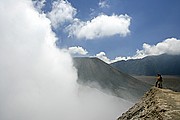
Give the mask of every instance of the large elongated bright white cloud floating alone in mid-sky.
M 67 31 L 69 36 L 75 36 L 78 39 L 95 39 L 113 35 L 126 36 L 130 33 L 130 20 L 128 15 L 99 15 L 87 22 L 74 19 L 74 23 L 67 27 Z

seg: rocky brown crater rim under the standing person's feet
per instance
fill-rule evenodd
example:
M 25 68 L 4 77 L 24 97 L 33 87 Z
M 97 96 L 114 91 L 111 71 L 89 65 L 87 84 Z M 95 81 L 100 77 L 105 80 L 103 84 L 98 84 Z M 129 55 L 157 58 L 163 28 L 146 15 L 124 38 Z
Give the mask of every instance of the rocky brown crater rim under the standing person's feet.
M 152 87 L 117 120 L 180 120 L 180 92 Z

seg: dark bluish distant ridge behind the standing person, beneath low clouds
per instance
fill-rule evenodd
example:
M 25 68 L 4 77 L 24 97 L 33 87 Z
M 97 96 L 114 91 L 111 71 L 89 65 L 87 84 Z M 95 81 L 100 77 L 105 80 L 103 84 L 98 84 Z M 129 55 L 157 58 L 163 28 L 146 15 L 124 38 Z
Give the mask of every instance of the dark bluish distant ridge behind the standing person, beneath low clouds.
M 118 61 L 111 66 L 130 75 L 180 75 L 180 55 L 148 56 L 143 59 Z

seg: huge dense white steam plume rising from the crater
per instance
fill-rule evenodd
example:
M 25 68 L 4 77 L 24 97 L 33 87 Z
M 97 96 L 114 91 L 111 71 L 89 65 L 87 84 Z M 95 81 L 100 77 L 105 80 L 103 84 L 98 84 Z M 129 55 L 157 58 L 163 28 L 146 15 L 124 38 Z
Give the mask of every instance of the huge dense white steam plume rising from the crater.
M 132 103 L 77 84 L 46 15 L 29 0 L 0 1 L 0 120 L 110 120 Z

